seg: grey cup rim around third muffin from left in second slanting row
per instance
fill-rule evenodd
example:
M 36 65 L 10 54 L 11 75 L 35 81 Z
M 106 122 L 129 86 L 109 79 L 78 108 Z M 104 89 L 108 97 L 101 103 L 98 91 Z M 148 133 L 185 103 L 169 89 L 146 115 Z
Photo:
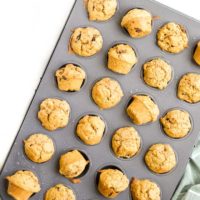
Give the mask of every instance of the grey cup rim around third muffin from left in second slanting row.
M 154 59 L 159 59 L 159 58 L 162 59 L 163 61 L 165 61 L 167 64 L 169 64 L 169 65 L 171 66 L 171 70 L 172 70 L 171 79 L 170 79 L 170 81 L 167 83 L 167 87 L 164 88 L 164 89 L 159 89 L 159 88 L 150 86 L 150 85 L 148 85 L 148 84 L 144 81 L 144 65 L 145 65 L 147 62 L 150 62 L 150 61 L 152 61 L 152 60 L 154 60 Z M 144 84 L 145 84 L 148 88 L 153 89 L 153 90 L 158 91 L 158 92 L 163 92 L 163 91 L 165 91 L 165 90 L 172 84 L 172 82 L 173 82 L 173 80 L 174 80 L 174 66 L 171 65 L 171 62 L 170 62 L 169 60 L 166 60 L 165 57 L 164 57 L 163 55 L 161 55 L 161 56 L 155 56 L 155 57 L 152 57 L 152 58 L 147 59 L 147 60 L 142 64 L 141 71 L 140 71 L 140 76 L 141 76 L 141 80 L 144 82 Z

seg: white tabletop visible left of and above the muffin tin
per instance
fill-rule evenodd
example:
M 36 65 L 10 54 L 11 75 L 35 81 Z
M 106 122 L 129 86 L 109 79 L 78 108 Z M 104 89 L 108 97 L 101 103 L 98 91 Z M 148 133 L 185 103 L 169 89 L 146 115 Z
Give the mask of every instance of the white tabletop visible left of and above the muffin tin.
M 159 1 L 200 20 L 197 0 Z M 0 168 L 73 3 L 0 0 Z

